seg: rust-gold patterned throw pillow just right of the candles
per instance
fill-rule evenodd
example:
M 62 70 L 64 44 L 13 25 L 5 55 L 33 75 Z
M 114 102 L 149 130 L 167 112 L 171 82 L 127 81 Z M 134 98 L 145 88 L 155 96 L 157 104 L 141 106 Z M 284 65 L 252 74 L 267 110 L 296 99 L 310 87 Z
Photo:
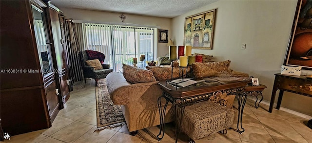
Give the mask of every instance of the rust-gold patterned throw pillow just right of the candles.
M 230 70 L 230 60 L 213 63 L 193 63 L 192 68 L 196 78 L 216 77 L 221 71 Z

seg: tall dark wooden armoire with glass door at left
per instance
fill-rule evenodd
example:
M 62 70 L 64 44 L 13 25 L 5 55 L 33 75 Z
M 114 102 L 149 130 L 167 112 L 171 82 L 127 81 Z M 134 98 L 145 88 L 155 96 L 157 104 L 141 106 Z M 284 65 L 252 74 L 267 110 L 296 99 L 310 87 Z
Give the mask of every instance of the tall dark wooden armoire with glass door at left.
M 62 13 L 40 0 L 0 7 L 0 125 L 11 136 L 51 127 L 70 96 Z

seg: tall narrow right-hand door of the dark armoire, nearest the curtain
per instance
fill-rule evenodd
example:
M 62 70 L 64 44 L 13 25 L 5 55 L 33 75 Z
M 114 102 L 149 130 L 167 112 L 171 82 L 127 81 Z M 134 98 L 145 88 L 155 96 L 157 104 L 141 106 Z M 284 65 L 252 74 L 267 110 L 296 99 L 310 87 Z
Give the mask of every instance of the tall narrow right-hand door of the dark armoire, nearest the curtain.
M 58 80 L 59 80 L 59 87 L 60 87 L 60 94 L 61 94 L 61 101 L 62 103 L 65 103 L 70 94 L 69 94 L 69 85 L 68 85 L 68 66 L 67 66 L 67 52 L 66 52 L 66 45 L 65 45 L 65 39 L 64 39 L 64 21 L 62 20 L 62 23 L 60 22 L 59 18 L 59 12 L 55 9 L 50 7 L 51 4 L 49 4 L 49 16 L 50 16 L 50 22 L 51 22 L 51 31 L 53 35 L 53 46 L 55 50 L 55 58 L 57 63 L 57 69 L 56 71 L 58 73 Z M 53 6 L 54 7 L 54 6 Z M 56 8 L 56 7 L 54 7 Z M 63 105 L 61 105 L 63 106 Z

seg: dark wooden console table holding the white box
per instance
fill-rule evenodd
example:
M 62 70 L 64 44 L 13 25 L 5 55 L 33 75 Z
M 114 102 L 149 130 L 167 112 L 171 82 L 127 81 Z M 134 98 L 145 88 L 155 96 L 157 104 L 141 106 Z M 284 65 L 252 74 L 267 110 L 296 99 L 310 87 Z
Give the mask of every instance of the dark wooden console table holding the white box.
M 312 97 L 312 79 L 307 78 L 305 76 L 290 76 L 290 75 L 282 75 L 281 73 L 275 74 L 275 80 L 269 108 L 270 113 L 273 110 L 275 94 L 278 89 L 280 91 L 276 105 L 277 110 L 279 110 L 279 107 L 281 106 L 284 91 Z

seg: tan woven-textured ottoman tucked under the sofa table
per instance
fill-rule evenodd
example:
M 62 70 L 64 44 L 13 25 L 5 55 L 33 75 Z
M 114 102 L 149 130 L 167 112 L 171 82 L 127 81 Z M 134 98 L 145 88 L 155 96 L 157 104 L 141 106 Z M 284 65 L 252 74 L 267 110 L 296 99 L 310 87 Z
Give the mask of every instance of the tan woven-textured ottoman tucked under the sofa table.
M 178 111 L 177 118 L 177 121 L 180 122 L 180 111 Z M 234 111 L 232 109 L 204 101 L 185 107 L 181 131 L 191 139 L 198 140 L 231 127 L 233 121 Z

